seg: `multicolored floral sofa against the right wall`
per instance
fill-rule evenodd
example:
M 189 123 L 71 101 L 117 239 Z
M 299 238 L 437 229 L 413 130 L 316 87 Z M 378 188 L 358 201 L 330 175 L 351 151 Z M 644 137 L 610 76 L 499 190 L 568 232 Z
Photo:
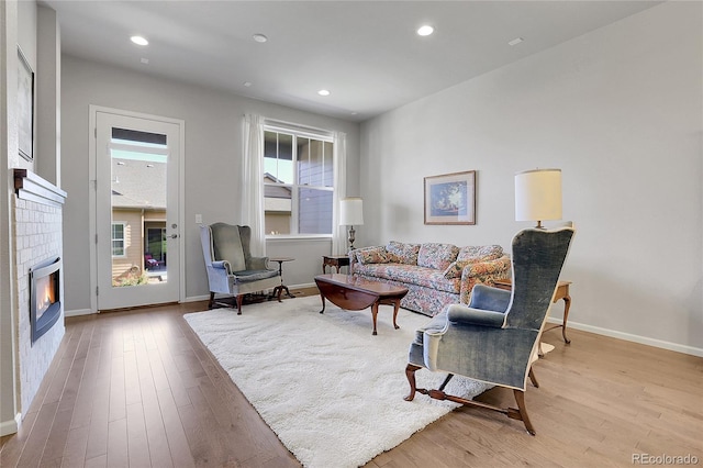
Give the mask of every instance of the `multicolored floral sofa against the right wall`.
M 401 307 L 433 316 L 451 303 L 469 303 L 475 285 L 510 278 L 510 257 L 500 245 L 457 247 L 409 244 L 358 248 L 349 253 L 349 271 L 358 277 L 404 286 Z

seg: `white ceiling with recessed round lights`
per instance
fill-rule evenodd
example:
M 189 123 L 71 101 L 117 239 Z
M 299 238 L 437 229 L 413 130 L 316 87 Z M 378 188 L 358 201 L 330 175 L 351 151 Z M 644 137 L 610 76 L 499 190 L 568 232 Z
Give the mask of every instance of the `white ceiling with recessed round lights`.
M 57 11 L 67 54 L 362 121 L 660 2 L 40 3 Z M 421 37 L 425 23 L 435 33 Z M 255 42 L 256 33 L 268 42 Z M 149 45 L 132 44 L 134 34 Z M 515 37 L 524 42 L 510 46 Z M 319 96 L 323 88 L 332 94 Z

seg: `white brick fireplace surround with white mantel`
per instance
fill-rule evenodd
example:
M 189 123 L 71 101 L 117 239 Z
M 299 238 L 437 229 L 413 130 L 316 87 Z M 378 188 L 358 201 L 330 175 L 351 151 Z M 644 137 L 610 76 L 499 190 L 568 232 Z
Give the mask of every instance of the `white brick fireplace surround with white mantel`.
M 30 269 L 47 259 L 63 257 L 63 204 L 66 192 L 26 169 L 14 169 L 14 189 L 11 230 L 16 285 L 16 376 L 19 411 L 24 415 L 65 334 L 62 305 L 56 323 L 32 343 Z M 63 282 L 58 293 L 63 299 Z

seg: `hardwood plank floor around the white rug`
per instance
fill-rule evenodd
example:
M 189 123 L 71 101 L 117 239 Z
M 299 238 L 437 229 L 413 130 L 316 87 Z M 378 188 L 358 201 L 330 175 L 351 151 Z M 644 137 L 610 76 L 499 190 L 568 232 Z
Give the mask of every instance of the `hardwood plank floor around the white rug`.
M 300 466 L 183 321 L 204 309 L 67 319 L 20 433 L 0 439 L 0 466 Z M 520 421 L 459 409 L 367 466 L 632 466 L 635 454 L 703 465 L 703 358 L 569 335 L 571 345 L 545 334 L 556 349 L 535 365 L 540 388 L 525 399 L 535 437 Z M 503 389 L 479 399 L 514 405 Z

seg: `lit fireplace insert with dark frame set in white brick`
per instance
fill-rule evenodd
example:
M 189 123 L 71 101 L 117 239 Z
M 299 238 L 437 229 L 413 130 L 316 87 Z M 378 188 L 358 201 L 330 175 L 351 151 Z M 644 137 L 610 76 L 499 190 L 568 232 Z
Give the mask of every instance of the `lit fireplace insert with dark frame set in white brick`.
M 32 345 L 48 332 L 62 315 L 62 259 L 43 261 L 30 268 L 30 323 Z

